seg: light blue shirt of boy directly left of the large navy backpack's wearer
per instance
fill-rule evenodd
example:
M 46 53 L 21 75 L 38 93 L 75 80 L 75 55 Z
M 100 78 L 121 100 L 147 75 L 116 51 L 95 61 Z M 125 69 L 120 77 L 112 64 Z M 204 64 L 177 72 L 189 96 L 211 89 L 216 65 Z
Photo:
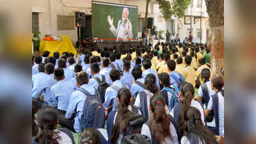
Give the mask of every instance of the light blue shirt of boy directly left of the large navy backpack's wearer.
M 70 95 L 74 91 L 74 84 L 71 81 L 61 80 L 51 87 L 51 96 L 57 109 L 67 110 Z

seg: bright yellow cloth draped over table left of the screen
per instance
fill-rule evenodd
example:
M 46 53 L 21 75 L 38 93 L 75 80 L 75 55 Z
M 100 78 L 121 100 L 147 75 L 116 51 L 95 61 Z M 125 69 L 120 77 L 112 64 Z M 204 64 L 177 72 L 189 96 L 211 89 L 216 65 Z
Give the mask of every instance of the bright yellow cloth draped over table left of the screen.
M 70 37 L 66 35 L 61 35 L 62 41 L 41 41 L 40 42 L 40 54 L 42 54 L 44 51 L 51 52 L 49 56 L 53 56 L 54 52 L 60 52 L 62 54 L 63 52 L 72 52 L 76 56 L 76 49 L 73 46 Z

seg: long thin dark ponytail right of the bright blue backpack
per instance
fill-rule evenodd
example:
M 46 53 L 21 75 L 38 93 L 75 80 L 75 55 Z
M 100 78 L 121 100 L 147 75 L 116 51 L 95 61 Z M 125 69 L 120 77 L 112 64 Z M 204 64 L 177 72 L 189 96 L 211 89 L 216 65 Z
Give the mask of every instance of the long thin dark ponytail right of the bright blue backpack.
M 184 111 L 185 109 L 189 108 L 191 105 L 191 100 L 193 100 L 193 95 L 195 94 L 195 88 L 191 83 L 185 83 L 182 86 L 181 89 L 182 93 L 182 100 L 181 100 L 181 108 L 180 108 L 180 113 L 179 113 L 179 122 L 178 122 L 178 127 L 179 127 L 179 132 L 180 134 L 185 133 L 185 124 L 184 124 Z

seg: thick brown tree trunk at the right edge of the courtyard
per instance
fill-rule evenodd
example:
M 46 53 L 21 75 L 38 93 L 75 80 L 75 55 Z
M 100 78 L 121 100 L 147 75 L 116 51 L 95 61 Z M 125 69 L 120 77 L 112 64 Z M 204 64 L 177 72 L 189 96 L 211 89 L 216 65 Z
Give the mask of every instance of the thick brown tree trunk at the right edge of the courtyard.
M 205 0 L 209 15 L 209 49 L 211 49 L 211 70 L 220 74 L 224 66 L 224 0 Z

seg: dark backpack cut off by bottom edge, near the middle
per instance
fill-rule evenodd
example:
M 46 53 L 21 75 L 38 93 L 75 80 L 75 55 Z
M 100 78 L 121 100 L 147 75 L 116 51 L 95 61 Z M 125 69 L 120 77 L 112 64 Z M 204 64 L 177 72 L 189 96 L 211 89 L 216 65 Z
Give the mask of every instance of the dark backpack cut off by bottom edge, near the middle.
M 151 144 L 150 139 L 143 134 L 132 134 L 122 138 L 121 144 Z

